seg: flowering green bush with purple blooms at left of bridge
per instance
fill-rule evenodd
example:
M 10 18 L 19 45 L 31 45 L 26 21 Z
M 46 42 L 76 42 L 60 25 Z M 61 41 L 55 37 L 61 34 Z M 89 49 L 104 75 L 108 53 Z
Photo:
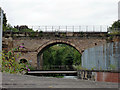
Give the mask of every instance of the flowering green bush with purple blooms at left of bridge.
M 24 70 L 27 71 L 27 64 L 16 61 L 15 57 L 18 55 L 14 53 L 15 50 L 17 49 L 12 49 L 7 53 L 2 53 L 2 67 L 0 68 L 2 72 L 22 73 Z

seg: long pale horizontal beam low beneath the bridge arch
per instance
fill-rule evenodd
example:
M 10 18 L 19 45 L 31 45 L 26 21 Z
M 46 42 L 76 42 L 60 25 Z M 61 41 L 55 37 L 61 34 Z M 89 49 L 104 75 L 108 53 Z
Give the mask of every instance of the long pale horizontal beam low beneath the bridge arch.
M 77 73 L 77 71 L 29 71 L 28 74 L 69 74 Z

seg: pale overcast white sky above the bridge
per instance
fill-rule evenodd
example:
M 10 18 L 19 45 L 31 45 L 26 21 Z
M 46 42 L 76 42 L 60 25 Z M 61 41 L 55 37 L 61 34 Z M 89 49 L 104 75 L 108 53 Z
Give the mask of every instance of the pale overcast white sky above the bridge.
M 111 25 L 119 0 L 0 0 L 14 25 Z

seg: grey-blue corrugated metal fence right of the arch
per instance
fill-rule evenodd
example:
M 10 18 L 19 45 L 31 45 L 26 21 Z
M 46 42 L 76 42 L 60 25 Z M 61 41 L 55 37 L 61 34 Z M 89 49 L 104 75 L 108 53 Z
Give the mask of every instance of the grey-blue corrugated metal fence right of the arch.
M 90 70 L 119 70 L 120 42 L 86 49 L 82 54 L 82 67 Z

